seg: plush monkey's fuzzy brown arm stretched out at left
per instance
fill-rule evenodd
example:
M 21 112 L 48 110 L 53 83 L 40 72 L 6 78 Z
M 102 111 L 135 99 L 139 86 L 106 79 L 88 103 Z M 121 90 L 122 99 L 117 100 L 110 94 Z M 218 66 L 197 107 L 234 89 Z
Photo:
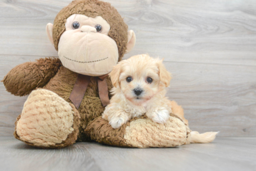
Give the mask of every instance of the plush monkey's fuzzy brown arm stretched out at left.
M 35 88 L 46 85 L 60 67 L 61 61 L 58 58 L 41 58 L 15 66 L 2 82 L 8 92 L 15 96 L 25 96 Z

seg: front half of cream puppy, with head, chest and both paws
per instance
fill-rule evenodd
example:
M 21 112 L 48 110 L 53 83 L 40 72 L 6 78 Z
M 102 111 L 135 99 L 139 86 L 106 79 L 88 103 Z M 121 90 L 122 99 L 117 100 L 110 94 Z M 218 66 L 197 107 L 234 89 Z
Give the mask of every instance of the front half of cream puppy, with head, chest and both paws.
M 171 101 L 165 97 L 171 80 L 162 60 L 147 54 L 119 62 L 110 72 L 114 96 L 102 114 L 113 128 L 146 114 L 154 122 L 165 123 L 171 111 Z

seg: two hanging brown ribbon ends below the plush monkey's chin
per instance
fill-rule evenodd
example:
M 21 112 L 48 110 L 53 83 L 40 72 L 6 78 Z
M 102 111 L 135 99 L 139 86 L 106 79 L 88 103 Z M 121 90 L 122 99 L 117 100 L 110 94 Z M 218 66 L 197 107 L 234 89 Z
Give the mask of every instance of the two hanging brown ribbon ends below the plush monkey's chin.
M 99 96 L 101 99 L 101 103 L 103 106 L 109 104 L 108 98 L 108 84 L 106 77 L 108 74 L 101 75 L 97 77 L 98 80 L 98 88 L 99 88 Z M 69 96 L 69 99 L 73 102 L 75 107 L 78 109 L 81 105 L 82 99 L 85 95 L 86 89 L 90 82 L 91 76 L 78 74 L 76 82 L 74 84 L 74 88 Z

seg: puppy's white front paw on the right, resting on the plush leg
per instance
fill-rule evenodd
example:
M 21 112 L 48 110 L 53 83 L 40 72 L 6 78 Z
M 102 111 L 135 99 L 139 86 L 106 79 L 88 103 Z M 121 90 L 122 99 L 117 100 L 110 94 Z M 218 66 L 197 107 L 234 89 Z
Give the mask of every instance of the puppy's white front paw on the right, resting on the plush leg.
M 146 115 L 154 122 L 164 124 L 168 120 L 170 113 L 166 108 L 157 108 L 155 110 L 148 111 Z

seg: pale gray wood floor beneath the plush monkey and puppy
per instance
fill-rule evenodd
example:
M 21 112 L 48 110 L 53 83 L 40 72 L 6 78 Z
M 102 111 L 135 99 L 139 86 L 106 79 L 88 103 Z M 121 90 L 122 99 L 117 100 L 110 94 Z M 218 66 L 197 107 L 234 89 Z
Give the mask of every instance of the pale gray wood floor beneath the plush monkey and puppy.
M 0 138 L 0 171 L 255 171 L 256 138 L 134 149 L 77 143 L 44 150 Z

